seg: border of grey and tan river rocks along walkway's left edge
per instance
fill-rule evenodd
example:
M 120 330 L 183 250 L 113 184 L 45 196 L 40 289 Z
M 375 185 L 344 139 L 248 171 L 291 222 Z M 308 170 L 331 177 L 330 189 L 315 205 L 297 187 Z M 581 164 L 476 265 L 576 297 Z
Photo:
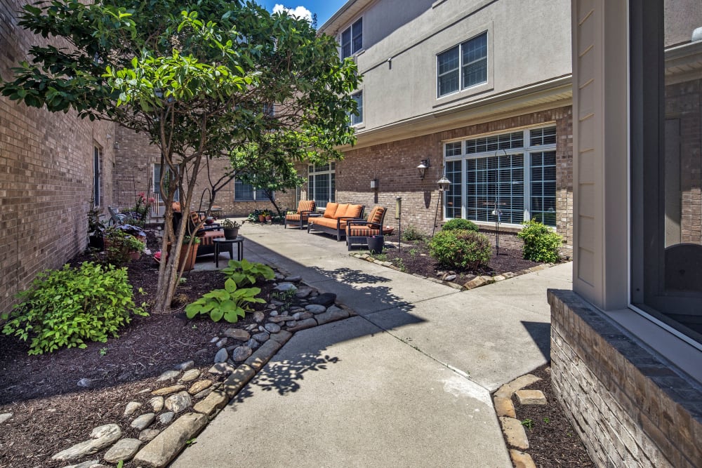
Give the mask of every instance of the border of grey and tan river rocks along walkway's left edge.
M 194 361 L 180 363 L 158 378 L 163 387 L 138 392 L 142 396 L 152 396 L 146 405 L 137 401 L 126 404 L 124 415 L 135 416 L 130 425 L 140 431 L 139 439 L 122 438 L 118 424 L 104 424 L 92 430 L 90 439 L 62 450 L 52 459 L 69 462 L 110 447 L 102 456 L 107 463 L 131 460 L 143 468 L 165 467 L 237 396 L 295 332 L 356 315 L 348 307 L 337 305 L 335 294 L 319 293 L 300 276 L 277 273 L 274 290 L 283 296 L 296 297 L 298 305 L 272 300 L 268 306 L 275 310 L 267 319 L 263 312 L 254 312 L 256 323 L 245 328 L 235 328 L 236 325 L 232 324 L 232 328 L 222 333 L 223 336 L 212 338 L 218 352 L 213 356 L 214 365 L 206 373 L 193 368 Z M 227 347 L 229 340 L 244 344 Z M 224 375 L 225 380 L 213 383 L 206 378 L 208 374 Z M 160 431 L 149 429 L 156 420 L 168 425 Z M 99 467 L 105 465 L 98 459 L 65 468 Z

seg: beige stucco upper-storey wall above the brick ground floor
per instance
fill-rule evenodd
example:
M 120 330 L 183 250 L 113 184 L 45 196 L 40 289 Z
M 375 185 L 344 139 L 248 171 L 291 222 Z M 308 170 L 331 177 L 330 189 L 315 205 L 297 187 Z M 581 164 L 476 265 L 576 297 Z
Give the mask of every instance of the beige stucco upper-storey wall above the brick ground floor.
M 404 12 L 402 24 L 388 20 L 394 11 Z M 538 0 L 446 0 L 412 8 L 399 0 L 374 2 L 362 13 L 364 51 L 357 64 L 364 75 L 364 122 L 359 130 L 570 74 L 569 15 L 566 0 L 551 1 L 548 8 Z M 489 83 L 437 98 L 437 53 L 486 30 Z

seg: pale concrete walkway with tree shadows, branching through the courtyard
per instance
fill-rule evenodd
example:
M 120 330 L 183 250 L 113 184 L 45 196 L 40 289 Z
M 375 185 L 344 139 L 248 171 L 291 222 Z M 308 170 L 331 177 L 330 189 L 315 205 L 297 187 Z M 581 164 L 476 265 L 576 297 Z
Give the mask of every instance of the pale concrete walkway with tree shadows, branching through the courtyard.
M 322 234 L 241 234 L 245 258 L 358 316 L 296 333 L 172 467 L 512 466 L 489 394 L 548 361 L 546 289 L 571 288 L 571 264 L 460 292 Z

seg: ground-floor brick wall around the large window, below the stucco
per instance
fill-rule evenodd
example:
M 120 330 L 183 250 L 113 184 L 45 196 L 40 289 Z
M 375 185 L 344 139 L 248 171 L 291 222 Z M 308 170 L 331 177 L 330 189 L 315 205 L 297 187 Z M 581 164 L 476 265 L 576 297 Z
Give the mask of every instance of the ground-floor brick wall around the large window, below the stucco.
M 573 245 L 573 121 L 571 107 L 561 107 L 543 112 L 534 112 L 465 126 L 392 143 L 350 149 L 343 161 L 336 163 L 336 199 L 340 202 L 364 203 L 366 206 L 382 205 L 390 208 L 385 224 L 397 229 L 395 199 L 402 197 L 402 225 L 413 225 L 425 234 L 440 229 L 442 207 L 437 202 L 439 190 L 436 181 L 442 175 L 442 141 L 453 138 L 468 138 L 513 128 L 535 126 L 541 123 L 556 123 L 557 163 L 557 231 L 566 239 L 562 255 L 572 258 Z M 431 166 L 424 180 L 420 180 L 417 166 L 429 158 Z M 378 179 L 379 189 L 370 188 L 372 179 Z M 435 223 L 435 219 L 437 222 Z M 491 231 L 485 226 L 485 231 Z

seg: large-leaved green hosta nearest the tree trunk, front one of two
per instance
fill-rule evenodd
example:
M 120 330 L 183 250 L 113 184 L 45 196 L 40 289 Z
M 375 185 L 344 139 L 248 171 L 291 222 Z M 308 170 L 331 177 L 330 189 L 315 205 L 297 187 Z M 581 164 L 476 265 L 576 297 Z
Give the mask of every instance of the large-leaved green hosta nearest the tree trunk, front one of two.
M 260 292 L 260 288 L 238 288 L 237 283 L 229 278 L 224 282 L 223 289 L 213 290 L 187 305 L 185 315 L 193 319 L 204 314 L 216 322 L 225 319 L 235 323 L 240 317 L 243 319 L 247 311 L 253 310 L 251 304 L 265 304 L 265 300 L 256 297 Z

